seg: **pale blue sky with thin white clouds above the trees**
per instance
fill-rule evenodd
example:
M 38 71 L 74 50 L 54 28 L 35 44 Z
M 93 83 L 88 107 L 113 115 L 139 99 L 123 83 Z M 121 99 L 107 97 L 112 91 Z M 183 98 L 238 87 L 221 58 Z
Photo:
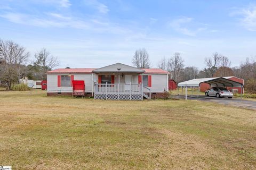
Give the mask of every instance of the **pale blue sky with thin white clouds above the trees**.
M 256 55 L 256 2 L 246 0 L 1 0 L 0 38 L 42 47 L 59 67 L 131 65 L 148 50 L 151 65 L 180 52 L 186 66 L 204 67 L 219 52 L 233 66 Z

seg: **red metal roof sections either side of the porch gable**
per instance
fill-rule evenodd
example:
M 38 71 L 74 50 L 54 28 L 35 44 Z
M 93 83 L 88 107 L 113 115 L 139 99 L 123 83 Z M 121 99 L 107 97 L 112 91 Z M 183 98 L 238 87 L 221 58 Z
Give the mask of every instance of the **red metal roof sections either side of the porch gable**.
M 46 74 L 68 74 L 68 73 L 79 73 L 79 74 L 89 74 L 95 69 L 56 69 L 52 71 L 47 71 Z M 144 70 L 146 74 L 167 74 L 169 72 L 162 69 L 141 69 Z

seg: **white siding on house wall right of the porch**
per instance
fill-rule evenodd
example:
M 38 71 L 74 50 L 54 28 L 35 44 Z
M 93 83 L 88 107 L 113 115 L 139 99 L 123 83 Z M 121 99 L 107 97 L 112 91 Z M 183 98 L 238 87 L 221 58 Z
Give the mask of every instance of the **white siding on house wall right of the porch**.
M 143 74 L 151 75 L 151 87 L 148 87 L 151 92 L 163 92 L 167 88 L 167 74 Z

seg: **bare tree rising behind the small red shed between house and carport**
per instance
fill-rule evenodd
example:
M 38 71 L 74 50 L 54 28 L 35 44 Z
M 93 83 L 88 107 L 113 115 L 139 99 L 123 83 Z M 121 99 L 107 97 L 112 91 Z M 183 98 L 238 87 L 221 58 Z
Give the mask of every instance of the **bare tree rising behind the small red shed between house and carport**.
M 176 82 L 180 82 L 180 73 L 184 67 L 184 60 L 181 58 L 180 53 L 174 53 L 169 59 L 168 65 L 172 75 L 172 79 Z

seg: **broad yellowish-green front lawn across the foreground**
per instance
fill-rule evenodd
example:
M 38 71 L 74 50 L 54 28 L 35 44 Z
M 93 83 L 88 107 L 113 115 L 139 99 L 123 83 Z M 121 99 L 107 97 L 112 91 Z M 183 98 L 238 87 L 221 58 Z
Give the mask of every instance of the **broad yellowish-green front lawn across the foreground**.
M 0 164 L 13 169 L 255 169 L 256 112 L 196 100 L 0 92 Z

